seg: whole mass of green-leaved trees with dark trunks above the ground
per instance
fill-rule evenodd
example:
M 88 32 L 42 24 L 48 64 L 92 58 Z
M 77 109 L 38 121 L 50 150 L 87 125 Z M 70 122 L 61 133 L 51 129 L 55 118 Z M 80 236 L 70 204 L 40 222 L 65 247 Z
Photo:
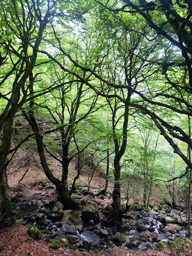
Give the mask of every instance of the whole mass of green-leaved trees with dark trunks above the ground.
M 14 215 L 7 169 L 18 148 L 37 149 L 66 209 L 85 162 L 114 180 L 169 184 L 190 205 L 192 5 L 185 0 L 0 1 L 0 202 Z M 60 177 L 47 156 L 62 165 Z M 68 166 L 78 174 L 68 188 Z M 122 176 L 123 175 L 123 176 Z M 122 177 L 121 177 L 122 176 Z M 88 189 L 91 184 L 89 180 Z M 188 207 L 190 224 L 191 207 Z

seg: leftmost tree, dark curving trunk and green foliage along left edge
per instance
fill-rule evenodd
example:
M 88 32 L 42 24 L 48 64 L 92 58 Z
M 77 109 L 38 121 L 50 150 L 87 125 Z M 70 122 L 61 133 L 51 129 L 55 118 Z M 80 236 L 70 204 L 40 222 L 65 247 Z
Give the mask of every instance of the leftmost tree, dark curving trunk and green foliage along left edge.
M 13 119 L 23 104 L 30 100 L 29 78 L 36 65 L 44 30 L 54 16 L 56 2 L 1 1 L 0 5 L 0 201 L 2 218 L 8 218 L 14 215 L 6 177 L 6 158 L 11 148 Z M 33 49 L 30 48 L 31 44 L 34 45 Z

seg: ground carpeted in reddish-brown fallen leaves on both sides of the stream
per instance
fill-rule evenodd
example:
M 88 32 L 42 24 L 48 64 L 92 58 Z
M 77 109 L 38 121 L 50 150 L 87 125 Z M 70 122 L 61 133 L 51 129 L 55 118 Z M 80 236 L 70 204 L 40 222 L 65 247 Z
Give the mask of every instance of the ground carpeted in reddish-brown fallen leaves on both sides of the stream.
M 50 159 L 49 167 L 54 170 L 54 175 L 60 178 L 61 176 L 61 166 L 58 165 L 56 160 Z M 8 184 L 10 186 L 10 193 L 12 196 L 15 196 L 17 193 L 17 186 L 19 180 L 25 174 L 23 180 L 21 181 L 20 188 L 20 197 L 16 205 L 22 205 L 25 203 L 32 204 L 37 202 L 37 200 L 51 200 L 56 196 L 56 190 L 52 189 L 51 193 L 46 193 L 44 191 L 44 186 L 53 186 L 50 184 L 46 178 L 38 156 L 34 154 L 30 160 L 30 164 L 26 163 L 26 153 L 22 150 L 18 150 L 17 156 L 12 160 L 10 168 L 8 169 Z M 81 186 L 86 186 L 88 184 L 88 179 L 92 173 L 92 168 L 85 168 L 82 172 L 82 175 L 78 179 L 78 184 Z M 76 176 L 76 167 L 75 162 L 71 161 L 69 166 L 69 184 L 72 182 L 74 176 Z M 96 171 L 94 173 L 92 184 L 94 188 L 91 188 L 91 191 L 96 194 L 101 190 L 101 186 L 104 186 L 105 180 L 101 177 L 100 172 Z M 91 184 L 91 185 L 92 185 Z M 53 186 L 54 187 L 54 186 Z M 109 193 L 112 192 L 112 183 L 109 184 Z M 162 195 L 162 192 L 158 191 L 156 188 L 156 196 Z M 126 199 L 123 196 L 124 200 Z M 130 200 L 140 199 L 140 196 L 137 195 L 132 197 Z M 160 198 L 161 199 L 161 198 Z M 99 203 L 99 198 L 94 199 Z M 112 202 L 111 198 L 105 198 L 102 200 L 102 205 L 106 206 Z M 100 213 L 100 212 L 99 212 Z M 104 216 L 100 213 L 100 218 Z M 54 250 L 48 247 L 48 242 L 46 242 L 44 236 L 41 240 L 34 240 L 27 234 L 27 226 L 14 224 L 12 227 L 4 228 L 0 230 L 0 256 L 5 254 L 14 255 L 14 256 L 84 256 L 87 253 L 79 252 L 78 250 L 70 250 L 68 248 L 60 247 L 58 250 Z M 87 254 L 89 255 L 89 254 Z M 124 250 L 117 249 L 112 253 L 100 254 L 101 256 L 190 256 L 192 255 L 192 247 L 186 246 L 182 252 L 174 250 L 170 252 L 169 249 L 164 250 L 155 250 L 148 249 L 147 251 L 133 251 L 133 250 Z

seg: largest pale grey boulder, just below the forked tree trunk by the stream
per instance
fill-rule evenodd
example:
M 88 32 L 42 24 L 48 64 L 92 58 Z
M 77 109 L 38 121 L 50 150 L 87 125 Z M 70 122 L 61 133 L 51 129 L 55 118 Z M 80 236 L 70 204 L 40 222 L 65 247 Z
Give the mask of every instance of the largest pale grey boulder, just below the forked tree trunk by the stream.
M 80 215 L 78 214 L 78 212 L 75 212 L 73 210 L 65 210 L 63 212 L 62 223 L 78 229 L 81 229 L 83 226 Z

